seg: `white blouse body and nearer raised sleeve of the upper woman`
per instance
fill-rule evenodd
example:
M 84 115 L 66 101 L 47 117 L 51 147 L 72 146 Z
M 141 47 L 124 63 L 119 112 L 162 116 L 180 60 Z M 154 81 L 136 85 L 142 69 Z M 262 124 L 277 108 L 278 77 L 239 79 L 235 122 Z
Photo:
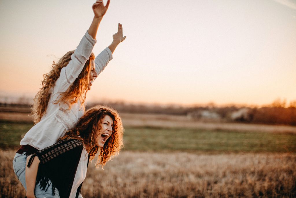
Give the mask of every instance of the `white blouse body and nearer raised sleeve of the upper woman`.
M 84 113 L 80 100 L 71 105 L 70 101 L 59 100 L 80 75 L 87 61 L 86 57 L 91 55 L 95 42 L 96 40 L 86 32 L 77 49 L 70 55 L 70 61 L 60 70 L 55 85 L 50 88 L 46 111 L 41 120 L 25 134 L 20 145 L 28 144 L 41 150 L 54 144 L 66 131 L 76 125 Z

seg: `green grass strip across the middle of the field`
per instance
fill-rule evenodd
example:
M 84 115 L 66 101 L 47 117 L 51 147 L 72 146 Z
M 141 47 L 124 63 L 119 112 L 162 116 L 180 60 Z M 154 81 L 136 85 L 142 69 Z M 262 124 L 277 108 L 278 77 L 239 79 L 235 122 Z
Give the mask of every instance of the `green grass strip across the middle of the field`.
M 0 122 L 0 148 L 18 147 L 30 123 Z M 296 152 L 296 135 L 202 129 L 125 128 L 124 150 L 201 152 Z

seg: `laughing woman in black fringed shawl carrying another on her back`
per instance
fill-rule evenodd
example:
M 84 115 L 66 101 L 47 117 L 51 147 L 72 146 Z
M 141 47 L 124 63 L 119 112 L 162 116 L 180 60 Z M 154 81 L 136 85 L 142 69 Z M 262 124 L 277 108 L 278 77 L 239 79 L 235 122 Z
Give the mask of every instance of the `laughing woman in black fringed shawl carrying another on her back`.
M 27 189 L 34 191 L 36 181 L 40 183 L 43 191 L 47 191 L 50 180 L 53 195 L 56 188 L 60 197 L 69 197 L 81 158 L 87 161 L 88 156 L 89 160 L 92 160 L 99 151 L 96 166 L 100 164 L 103 167 L 119 153 L 122 147 L 123 126 L 118 113 L 104 106 L 92 107 L 57 143 L 28 157 Z M 83 180 L 79 182 L 77 193 L 81 189 Z

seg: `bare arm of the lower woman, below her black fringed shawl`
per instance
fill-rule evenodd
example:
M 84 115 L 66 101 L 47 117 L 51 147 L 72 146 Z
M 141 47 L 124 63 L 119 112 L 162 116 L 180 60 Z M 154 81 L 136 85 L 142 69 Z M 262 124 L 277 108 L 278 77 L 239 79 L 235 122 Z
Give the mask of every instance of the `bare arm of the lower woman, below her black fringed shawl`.
M 38 157 L 34 157 L 34 160 L 30 164 L 30 168 L 29 168 L 28 162 L 30 160 L 30 157 L 31 156 L 27 157 L 26 171 L 25 171 L 26 186 L 27 186 L 26 196 L 28 198 L 35 197 L 34 191 L 35 191 L 35 185 L 36 185 L 38 166 L 39 166 L 39 162 L 40 162 Z

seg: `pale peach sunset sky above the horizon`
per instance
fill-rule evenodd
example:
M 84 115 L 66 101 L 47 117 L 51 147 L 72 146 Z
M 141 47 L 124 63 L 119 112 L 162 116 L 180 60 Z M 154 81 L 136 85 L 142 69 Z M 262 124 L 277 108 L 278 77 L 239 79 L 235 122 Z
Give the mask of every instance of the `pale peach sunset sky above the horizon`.
M 106 0 L 104 0 L 106 2 Z M 0 95 L 32 97 L 89 28 L 94 1 L 0 1 Z M 88 101 L 296 100 L 295 0 L 111 0 L 93 52 L 122 42 Z

